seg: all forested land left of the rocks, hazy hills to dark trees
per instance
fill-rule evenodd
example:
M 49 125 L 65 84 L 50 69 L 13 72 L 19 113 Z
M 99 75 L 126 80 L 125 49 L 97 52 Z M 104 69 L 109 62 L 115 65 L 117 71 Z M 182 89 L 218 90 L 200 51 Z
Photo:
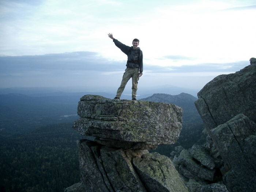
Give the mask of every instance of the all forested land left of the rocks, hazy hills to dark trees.
M 79 182 L 77 95 L 0 95 L 0 192 L 63 192 Z

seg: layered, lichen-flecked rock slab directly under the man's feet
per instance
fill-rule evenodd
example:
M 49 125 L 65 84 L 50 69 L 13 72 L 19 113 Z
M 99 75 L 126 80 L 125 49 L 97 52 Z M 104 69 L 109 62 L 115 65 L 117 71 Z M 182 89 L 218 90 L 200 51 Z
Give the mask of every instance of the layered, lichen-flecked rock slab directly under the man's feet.
M 109 147 L 153 149 L 173 144 L 182 128 L 182 109 L 168 103 L 84 95 L 73 128 Z

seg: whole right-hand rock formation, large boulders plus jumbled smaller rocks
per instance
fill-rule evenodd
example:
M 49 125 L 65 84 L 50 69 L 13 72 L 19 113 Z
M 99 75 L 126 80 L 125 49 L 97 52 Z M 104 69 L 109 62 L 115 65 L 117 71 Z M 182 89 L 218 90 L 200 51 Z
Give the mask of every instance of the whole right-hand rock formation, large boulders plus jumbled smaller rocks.
M 182 146 L 170 158 L 190 192 L 256 188 L 256 65 L 220 75 L 198 93 L 206 143 Z

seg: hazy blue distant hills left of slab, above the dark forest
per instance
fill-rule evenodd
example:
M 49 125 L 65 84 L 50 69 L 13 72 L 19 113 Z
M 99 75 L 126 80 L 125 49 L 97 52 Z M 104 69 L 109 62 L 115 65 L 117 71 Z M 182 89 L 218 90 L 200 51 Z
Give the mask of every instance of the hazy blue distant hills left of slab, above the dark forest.
M 0 95 L 0 135 L 29 133 L 43 125 L 73 122 L 79 97 Z

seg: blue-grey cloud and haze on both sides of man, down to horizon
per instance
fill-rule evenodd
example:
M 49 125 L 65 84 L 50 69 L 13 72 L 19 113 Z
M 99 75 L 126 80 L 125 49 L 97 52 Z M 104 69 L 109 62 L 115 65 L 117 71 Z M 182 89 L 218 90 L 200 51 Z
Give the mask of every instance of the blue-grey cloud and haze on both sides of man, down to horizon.
M 184 57 L 181 57 L 181 59 Z M 177 57 L 176 57 L 177 59 Z M 87 86 L 118 87 L 126 61 L 113 61 L 95 52 L 70 52 L 35 56 L 0 57 L 1 87 Z M 170 83 L 186 86 L 199 80 L 206 84 L 209 78 L 239 71 L 249 61 L 235 63 L 203 63 L 197 65 L 159 66 L 144 62 L 145 87 Z M 195 79 L 193 81 L 193 79 Z M 198 83 L 197 83 L 198 84 Z

